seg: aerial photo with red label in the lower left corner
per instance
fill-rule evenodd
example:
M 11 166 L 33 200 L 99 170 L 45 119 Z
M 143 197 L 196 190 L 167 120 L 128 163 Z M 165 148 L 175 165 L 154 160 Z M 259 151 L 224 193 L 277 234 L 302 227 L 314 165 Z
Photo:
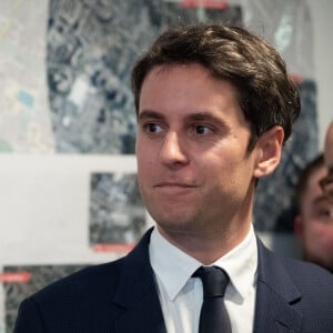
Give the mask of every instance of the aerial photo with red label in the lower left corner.
M 84 266 L 88 264 L 3 266 L 3 271 L 0 273 L 0 283 L 3 286 L 4 296 L 2 300 L 4 304 L 4 332 L 11 333 L 13 331 L 19 304 L 22 300 Z

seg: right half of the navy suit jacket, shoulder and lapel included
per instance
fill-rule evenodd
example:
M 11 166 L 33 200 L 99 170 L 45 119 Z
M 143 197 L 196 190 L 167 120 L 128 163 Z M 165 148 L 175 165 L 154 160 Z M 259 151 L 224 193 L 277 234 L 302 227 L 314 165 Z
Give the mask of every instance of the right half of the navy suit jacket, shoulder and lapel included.
M 260 330 L 255 332 L 272 331 L 273 321 L 293 327 L 292 332 L 333 332 L 333 275 L 315 264 L 275 254 L 260 241 L 258 244 Z

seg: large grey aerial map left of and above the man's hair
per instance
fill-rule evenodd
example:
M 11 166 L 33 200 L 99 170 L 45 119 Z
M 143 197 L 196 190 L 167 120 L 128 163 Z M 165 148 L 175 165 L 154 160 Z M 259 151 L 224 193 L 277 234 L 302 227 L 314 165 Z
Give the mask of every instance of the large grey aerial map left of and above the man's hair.
M 48 82 L 57 152 L 134 153 L 133 62 L 169 24 L 241 22 L 240 7 L 51 0 Z

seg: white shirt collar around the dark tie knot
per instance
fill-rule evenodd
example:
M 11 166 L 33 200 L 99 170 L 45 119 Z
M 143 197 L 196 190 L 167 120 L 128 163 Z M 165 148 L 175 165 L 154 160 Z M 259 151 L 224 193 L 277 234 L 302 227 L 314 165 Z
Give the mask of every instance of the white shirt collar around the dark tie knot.
M 152 231 L 149 245 L 150 261 L 154 273 L 164 285 L 168 295 L 174 300 L 192 274 L 202 265 L 169 241 L 157 228 Z M 256 281 L 258 249 L 253 226 L 245 239 L 213 265 L 222 268 L 229 275 L 231 284 L 226 294 L 244 299 Z

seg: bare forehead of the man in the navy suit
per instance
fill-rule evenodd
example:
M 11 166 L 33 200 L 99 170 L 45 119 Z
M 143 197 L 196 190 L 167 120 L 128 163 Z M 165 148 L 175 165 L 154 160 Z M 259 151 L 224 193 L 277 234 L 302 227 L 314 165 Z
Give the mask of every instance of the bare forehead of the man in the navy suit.
M 142 84 L 139 115 L 143 111 L 158 112 L 169 120 L 205 113 L 230 127 L 249 128 L 236 88 L 198 63 L 154 67 Z

